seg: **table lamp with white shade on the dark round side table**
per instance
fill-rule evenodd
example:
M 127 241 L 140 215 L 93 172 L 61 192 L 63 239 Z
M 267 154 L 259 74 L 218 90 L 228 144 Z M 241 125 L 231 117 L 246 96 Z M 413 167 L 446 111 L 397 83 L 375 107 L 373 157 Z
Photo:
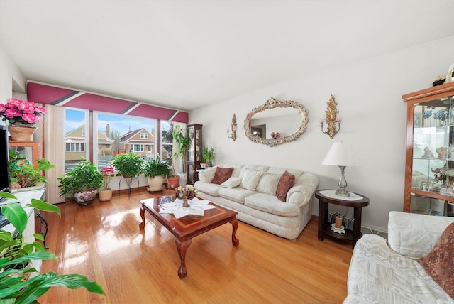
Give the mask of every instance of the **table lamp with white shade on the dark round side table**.
M 348 143 L 333 143 L 333 146 L 326 154 L 321 162 L 322 165 L 338 165 L 341 168 L 341 179 L 339 180 L 339 190 L 336 195 L 350 196 L 350 193 L 345 190 L 347 187 L 347 180 L 345 180 L 345 167 L 355 167 L 362 165 L 360 158 L 353 151 Z

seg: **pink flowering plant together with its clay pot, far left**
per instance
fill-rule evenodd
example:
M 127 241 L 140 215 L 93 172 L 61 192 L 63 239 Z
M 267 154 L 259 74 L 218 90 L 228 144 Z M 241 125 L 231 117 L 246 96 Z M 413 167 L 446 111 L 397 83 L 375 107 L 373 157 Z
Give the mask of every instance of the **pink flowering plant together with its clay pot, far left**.
M 8 121 L 8 131 L 13 141 L 30 141 L 36 123 L 45 113 L 44 107 L 21 99 L 9 98 L 6 104 L 0 104 L 1 120 Z

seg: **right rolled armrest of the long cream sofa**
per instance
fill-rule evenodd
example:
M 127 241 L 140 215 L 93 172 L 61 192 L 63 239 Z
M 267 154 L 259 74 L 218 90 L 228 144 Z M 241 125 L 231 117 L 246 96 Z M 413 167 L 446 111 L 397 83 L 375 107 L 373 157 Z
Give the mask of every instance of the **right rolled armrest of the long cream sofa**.
M 319 178 L 313 173 L 303 173 L 287 192 L 286 201 L 300 208 L 311 202 L 312 195 L 319 185 Z

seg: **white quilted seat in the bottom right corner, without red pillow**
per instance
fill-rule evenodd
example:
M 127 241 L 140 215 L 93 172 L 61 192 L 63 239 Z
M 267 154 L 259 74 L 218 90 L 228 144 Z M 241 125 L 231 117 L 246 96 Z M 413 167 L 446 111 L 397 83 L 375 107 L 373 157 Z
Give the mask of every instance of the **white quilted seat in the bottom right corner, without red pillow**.
M 454 303 L 417 261 L 451 222 L 453 217 L 389 212 L 388 241 L 365 234 L 356 243 L 344 303 Z

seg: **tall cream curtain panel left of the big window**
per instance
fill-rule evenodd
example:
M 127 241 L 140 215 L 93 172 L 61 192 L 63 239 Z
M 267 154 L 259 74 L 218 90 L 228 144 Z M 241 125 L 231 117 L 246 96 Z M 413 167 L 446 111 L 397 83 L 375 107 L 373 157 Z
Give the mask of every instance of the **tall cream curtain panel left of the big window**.
M 48 180 L 46 201 L 52 204 L 65 202 L 60 196 L 60 180 L 65 173 L 65 107 L 45 105 L 47 114 L 44 119 L 44 156 L 55 168 L 45 171 Z

